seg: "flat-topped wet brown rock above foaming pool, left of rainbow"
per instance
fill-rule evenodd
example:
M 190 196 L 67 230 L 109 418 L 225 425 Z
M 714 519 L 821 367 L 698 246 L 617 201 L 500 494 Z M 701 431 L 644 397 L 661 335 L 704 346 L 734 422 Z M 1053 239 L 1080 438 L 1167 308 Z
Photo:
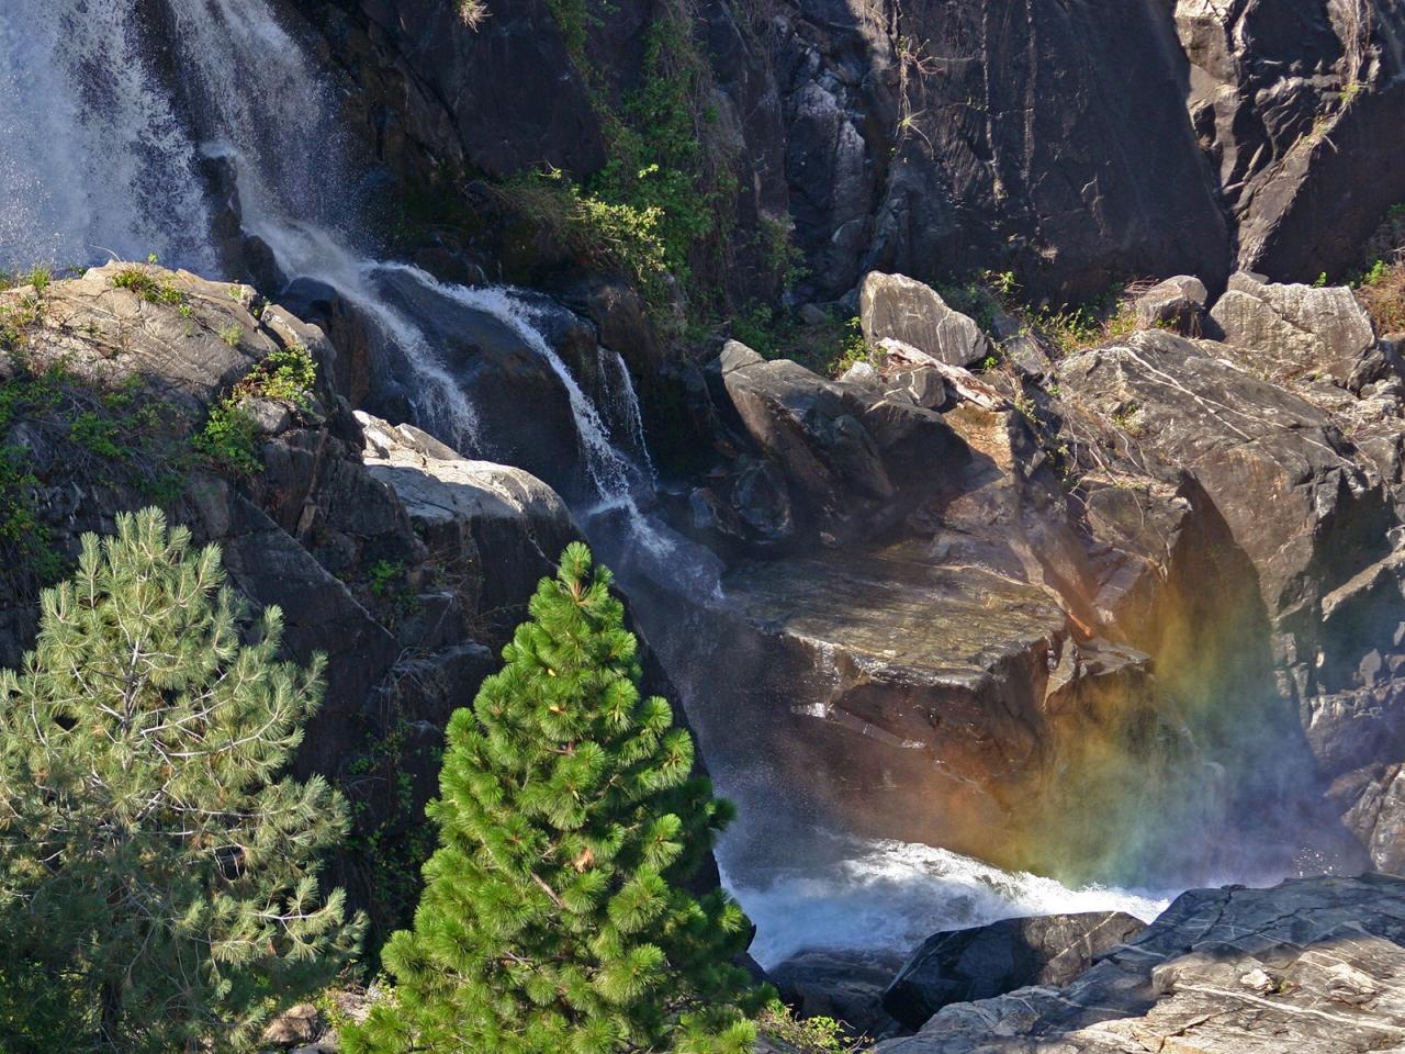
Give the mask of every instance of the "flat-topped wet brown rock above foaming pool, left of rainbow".
M 1076 642 L 1043 587 L 912 545 L 750 562 L 722 587 L 738 770 L 805 787 L 844 829 L 1048 861 L 1068 835 L 1044 843 L 1035 814 L 1079 808 L 1080 752 L 1161 735 L 1145 656 Z

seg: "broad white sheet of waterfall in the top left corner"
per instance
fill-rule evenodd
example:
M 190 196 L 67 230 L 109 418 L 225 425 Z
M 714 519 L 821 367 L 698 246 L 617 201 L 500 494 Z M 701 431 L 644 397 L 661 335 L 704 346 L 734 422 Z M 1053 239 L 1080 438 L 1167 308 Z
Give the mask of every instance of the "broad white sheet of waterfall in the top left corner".
M 132 8 L 0 4 L 0 268 L 148 253 L 214 268 L 198 152 Z

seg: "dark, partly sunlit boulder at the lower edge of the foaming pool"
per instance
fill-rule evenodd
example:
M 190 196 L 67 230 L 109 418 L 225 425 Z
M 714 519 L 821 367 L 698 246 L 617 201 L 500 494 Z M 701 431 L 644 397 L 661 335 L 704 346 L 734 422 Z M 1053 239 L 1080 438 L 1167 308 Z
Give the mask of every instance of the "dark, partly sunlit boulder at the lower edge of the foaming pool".
M 1085 912 L 934 933 L 894 978 L 882 1005 L 916 1030 L 948 1003 L 989 999 L 1026 985 L 1066 985 L 1145 925 L 1123 912 Z

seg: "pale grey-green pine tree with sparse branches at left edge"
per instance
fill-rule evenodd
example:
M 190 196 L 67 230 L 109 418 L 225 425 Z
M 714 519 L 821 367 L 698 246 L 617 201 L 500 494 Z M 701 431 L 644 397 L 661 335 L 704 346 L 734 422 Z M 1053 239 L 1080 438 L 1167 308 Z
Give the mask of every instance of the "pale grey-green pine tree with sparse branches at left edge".
M 344 804 L 278 777 L 322 663 L 277 661 L 281 613 L 222 583 L 216 547 L 121 516 L 0 672 L 8 1054 L 247 1050 L 358 939 L 315 874 Z

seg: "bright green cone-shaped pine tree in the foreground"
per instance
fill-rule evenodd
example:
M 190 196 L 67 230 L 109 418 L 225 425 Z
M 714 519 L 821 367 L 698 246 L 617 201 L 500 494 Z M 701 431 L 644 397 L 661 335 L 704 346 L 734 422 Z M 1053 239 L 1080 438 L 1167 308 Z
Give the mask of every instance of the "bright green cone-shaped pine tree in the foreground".
M 472 710 L 454 714 L 414 929 L 348 1054 L 749 1051 L 746 916 L 694 874 L 732 815 L 693 739 L 641 698 L 634 634 L 566 548 Z

